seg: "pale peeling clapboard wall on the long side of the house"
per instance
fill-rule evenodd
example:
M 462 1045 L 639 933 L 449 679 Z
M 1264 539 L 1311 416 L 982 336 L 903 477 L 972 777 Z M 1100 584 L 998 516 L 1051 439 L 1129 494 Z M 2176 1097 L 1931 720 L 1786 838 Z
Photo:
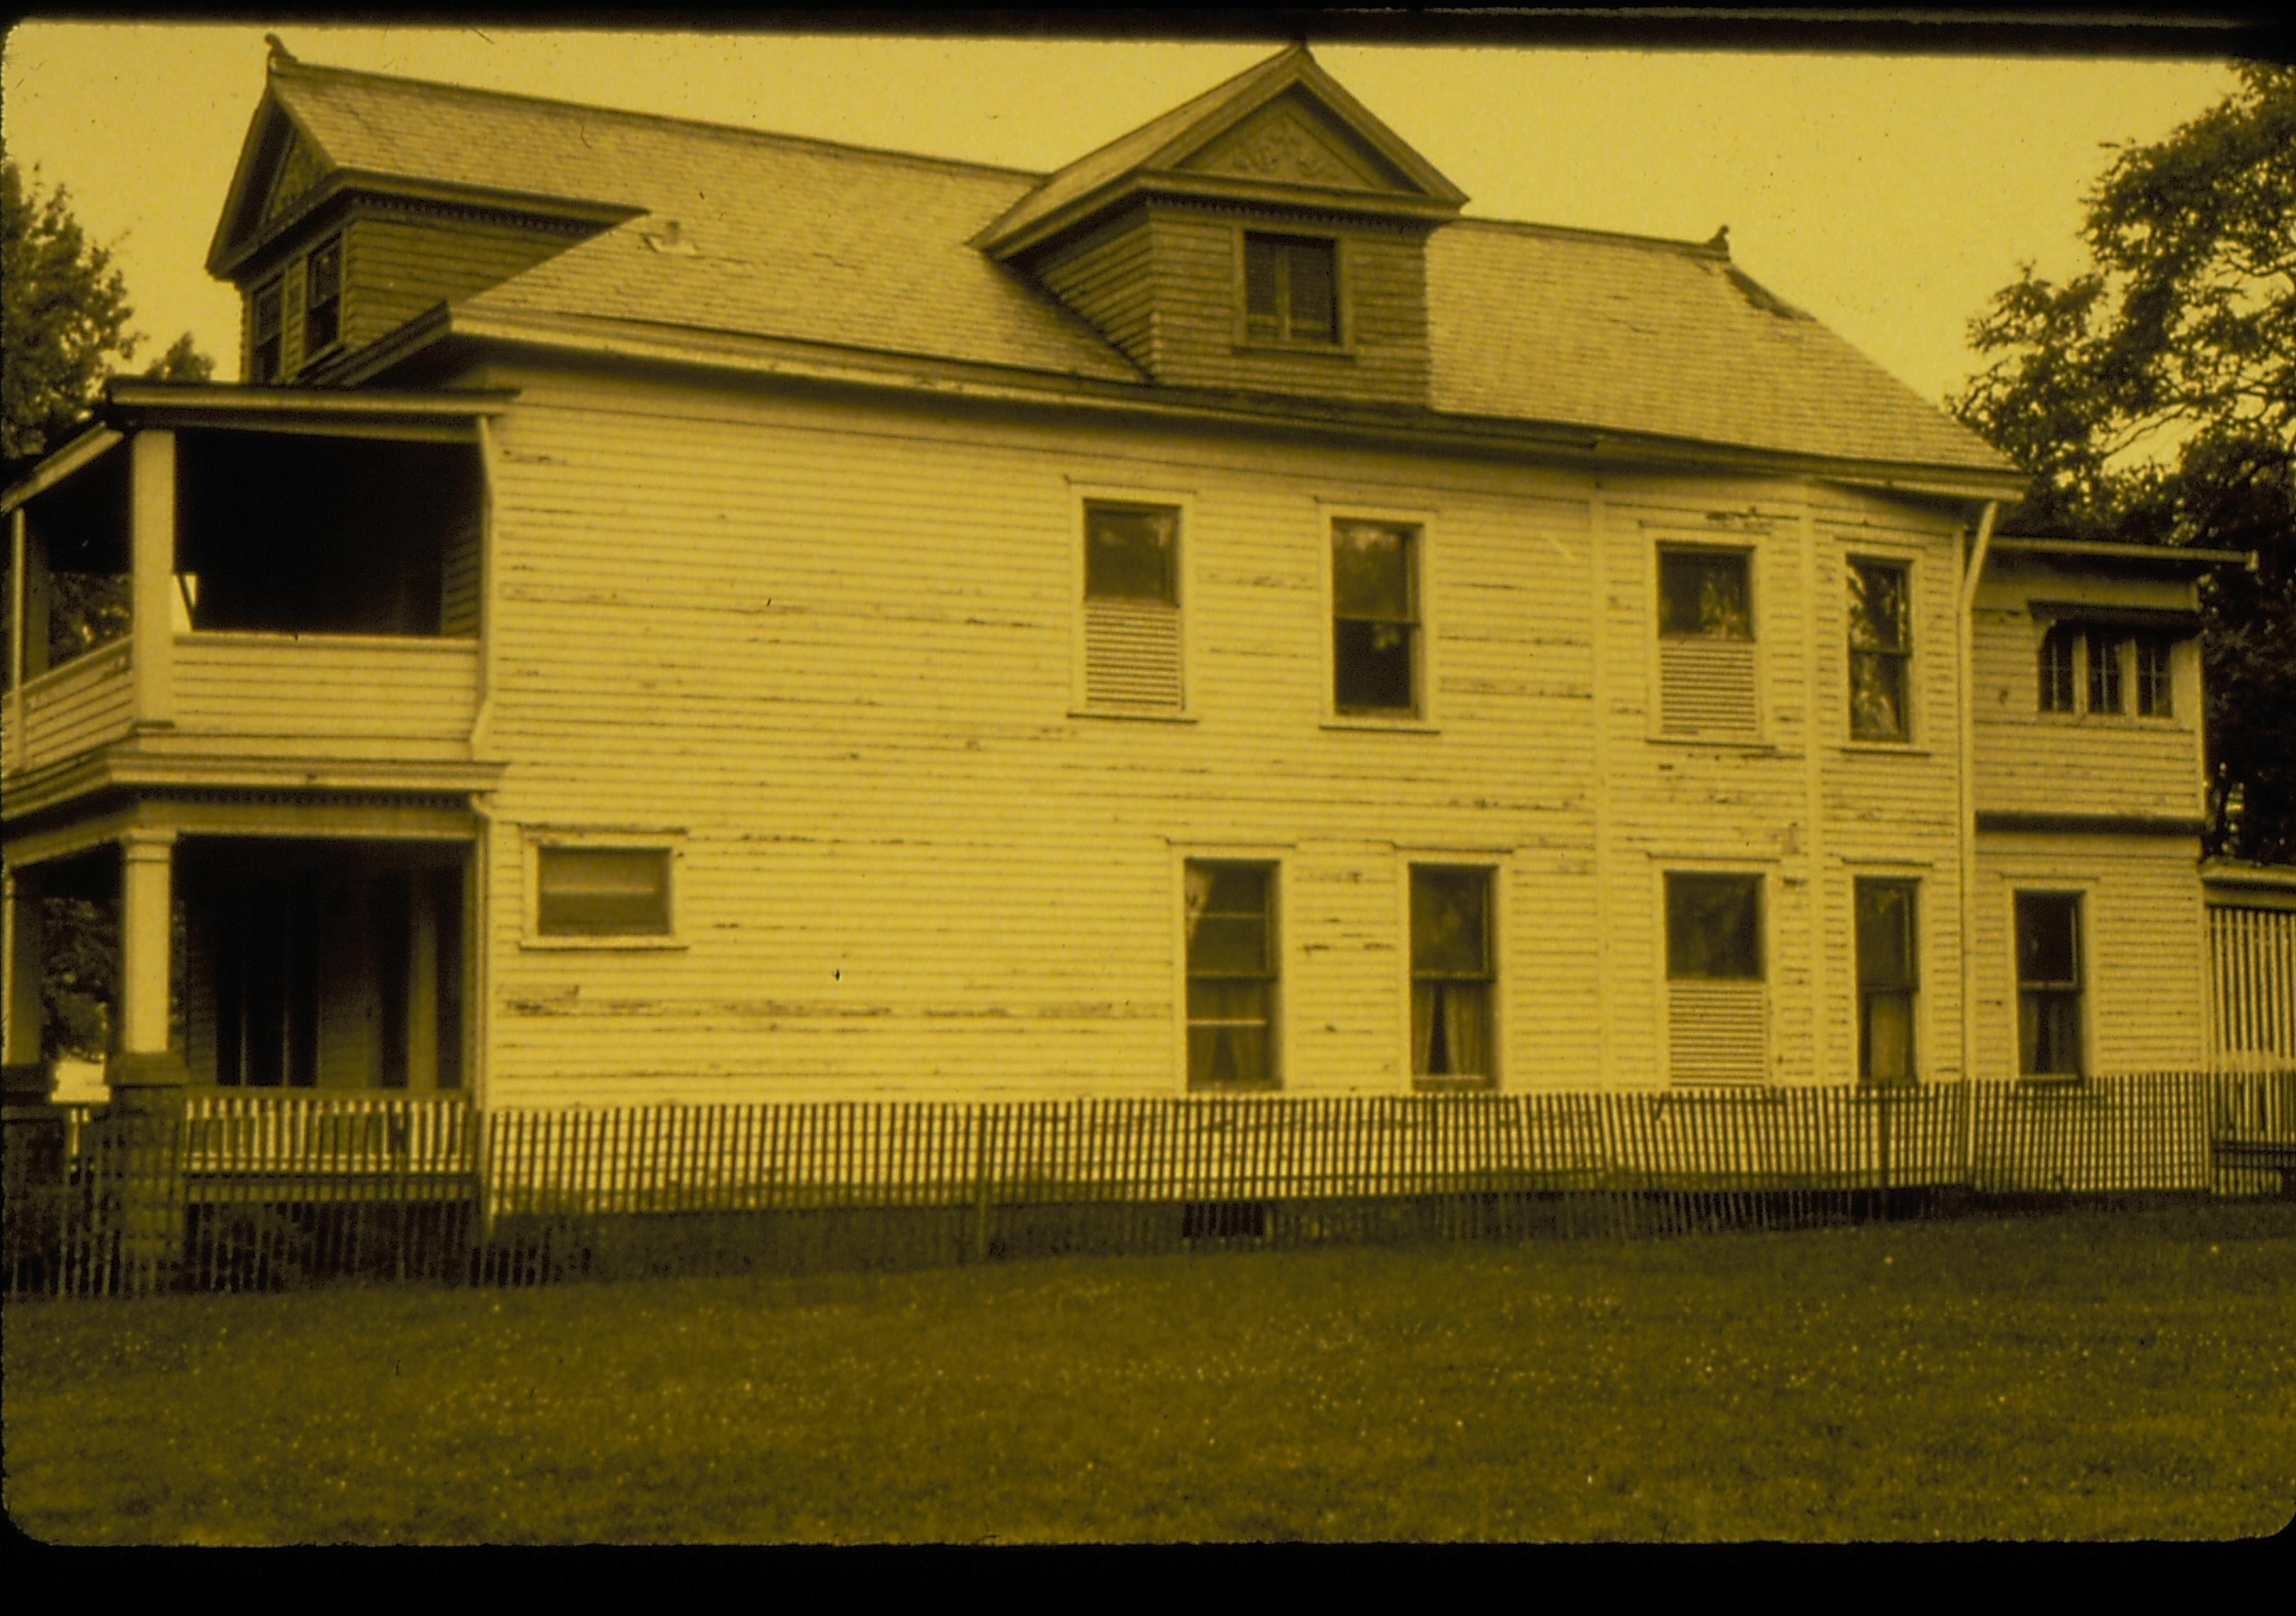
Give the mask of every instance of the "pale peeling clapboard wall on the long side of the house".
M 1931 813 L 1949 732 L 1862 785 L 1812 751 L 1805 551 L 1835 539 L 1805 487 L 1598 489 L 1072 418 L 484 379 L 521 388 L 498 461 L 489 1104 L 1173 1093 L 1178 861 L 1205 852 L 1281 863 L 1293 1093 L 1407 1088 L 1414 858 L 1497 868 L 1508 1088 L 1662 1081 L 1671 861 L 1770 877 L 1768 1074 L 1791 1081 L 1830 1074 L 1821 1019 L 1846 1054 L 1848 969 L 1812 957 L 1846 914 L 1835 847 L 1936 865 L 1926 914 L 1954 909 L 1954 819 Z M 1068 714 L 1077 482 L 1189 498 L 1189 723 Z M 1428 732 L 1327 723 L 1334 505 L 1428 523 Z M 1662 744 L 1651 535 L 1754 505 L 1763 744 Z M 1942 519 L 1867 516 L 1947 576 Z M 1809 815 L 1837 799 L 1874 824 L 1825 842 Z M 675 838 L 675 946 L 526 946 L 521 838 L 542 829 Z

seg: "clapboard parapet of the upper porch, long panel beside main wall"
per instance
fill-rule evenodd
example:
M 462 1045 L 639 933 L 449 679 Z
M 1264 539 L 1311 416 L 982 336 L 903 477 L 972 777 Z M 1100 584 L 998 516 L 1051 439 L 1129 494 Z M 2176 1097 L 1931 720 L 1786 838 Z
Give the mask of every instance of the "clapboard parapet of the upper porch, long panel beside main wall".
M 466 638 L 179 634 L 177 723 L 158 751 L 400 760 L 468 755 L 478 647 Z

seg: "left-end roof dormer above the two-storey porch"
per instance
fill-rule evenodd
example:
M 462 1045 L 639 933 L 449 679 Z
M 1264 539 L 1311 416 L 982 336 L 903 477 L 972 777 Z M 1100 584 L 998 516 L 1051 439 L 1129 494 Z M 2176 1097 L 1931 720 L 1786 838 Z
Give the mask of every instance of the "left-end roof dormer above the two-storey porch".
M 324 383 L 439 303 L 643 211 L 393 161 L 351 101 L 370 83 L 271 57 L 207 252 L 207 271 L 239 287 L 246 381 Z

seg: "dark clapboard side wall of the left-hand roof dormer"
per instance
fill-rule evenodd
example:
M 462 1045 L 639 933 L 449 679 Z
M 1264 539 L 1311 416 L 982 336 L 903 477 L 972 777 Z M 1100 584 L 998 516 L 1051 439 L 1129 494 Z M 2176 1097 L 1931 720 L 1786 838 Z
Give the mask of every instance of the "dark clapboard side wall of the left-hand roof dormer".
M 517 220 L 363 209 L 344 230 L 342 340 L 365 347 L 450 298 L 501 285 L 576 236 Z

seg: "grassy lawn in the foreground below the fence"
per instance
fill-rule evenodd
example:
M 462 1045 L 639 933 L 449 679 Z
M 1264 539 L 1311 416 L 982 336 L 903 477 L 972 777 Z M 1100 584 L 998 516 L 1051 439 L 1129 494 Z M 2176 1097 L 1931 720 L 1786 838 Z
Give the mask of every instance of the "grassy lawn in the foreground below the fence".
M 7 1315 L 51 1543 L 2239 1538 L 2296 1207 Z

